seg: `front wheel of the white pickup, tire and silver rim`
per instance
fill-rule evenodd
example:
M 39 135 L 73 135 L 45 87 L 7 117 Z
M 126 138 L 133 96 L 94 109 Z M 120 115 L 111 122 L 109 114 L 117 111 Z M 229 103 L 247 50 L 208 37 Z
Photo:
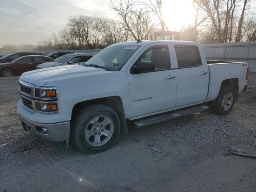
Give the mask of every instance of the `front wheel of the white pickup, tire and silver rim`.
M 93 154 L 108 150 L 121 128 L 119 116 L 112 108 L 92 104 L 76 114 L 71 129 L 76 146 L 86 154 Z

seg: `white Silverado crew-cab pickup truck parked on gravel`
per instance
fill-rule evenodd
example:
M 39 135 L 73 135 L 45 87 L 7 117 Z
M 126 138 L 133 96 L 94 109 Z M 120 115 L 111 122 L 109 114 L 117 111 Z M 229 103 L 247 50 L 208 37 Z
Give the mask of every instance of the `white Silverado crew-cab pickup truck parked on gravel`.
M 212 107 L 232 110 L 246 88 L 246 62 L 206 61 L 200 44 L 134 41 L 108 46 L 81 65 L 20 76 L 18 114 L 44 140 L 107 150 L 127 123 L 142 127 Z

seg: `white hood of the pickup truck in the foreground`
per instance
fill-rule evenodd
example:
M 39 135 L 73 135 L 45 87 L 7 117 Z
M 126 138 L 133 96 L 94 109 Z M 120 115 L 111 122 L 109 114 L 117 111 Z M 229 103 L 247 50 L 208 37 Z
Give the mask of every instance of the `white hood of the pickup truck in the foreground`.
M 44 86 L 48 82 L 62 80 L 67 78 L 76 78 L 93 74 L 108 73 L 101 68 L 85 67 L 81 65 L 67 65 L 51 68 L 43 68 L 25 72 L 20 76 L 20 80 L 34 84 L 35 86 Z

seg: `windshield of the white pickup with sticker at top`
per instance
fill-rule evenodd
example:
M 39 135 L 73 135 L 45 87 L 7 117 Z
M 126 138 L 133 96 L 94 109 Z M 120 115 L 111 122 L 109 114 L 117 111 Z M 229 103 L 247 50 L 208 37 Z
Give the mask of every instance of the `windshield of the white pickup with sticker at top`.
M 102 66 L 108 71 L 119 71 L 140 46 L 111 45 L 90 58 L 86 65 Z

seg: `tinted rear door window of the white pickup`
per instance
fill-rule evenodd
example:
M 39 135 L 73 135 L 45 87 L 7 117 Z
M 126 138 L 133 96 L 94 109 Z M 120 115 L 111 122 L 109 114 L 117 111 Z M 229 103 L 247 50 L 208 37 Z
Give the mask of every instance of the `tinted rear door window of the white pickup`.
M 202 64 L 200 52 L 195 45 L 174 45 L 178 68 L 199 66 Z

